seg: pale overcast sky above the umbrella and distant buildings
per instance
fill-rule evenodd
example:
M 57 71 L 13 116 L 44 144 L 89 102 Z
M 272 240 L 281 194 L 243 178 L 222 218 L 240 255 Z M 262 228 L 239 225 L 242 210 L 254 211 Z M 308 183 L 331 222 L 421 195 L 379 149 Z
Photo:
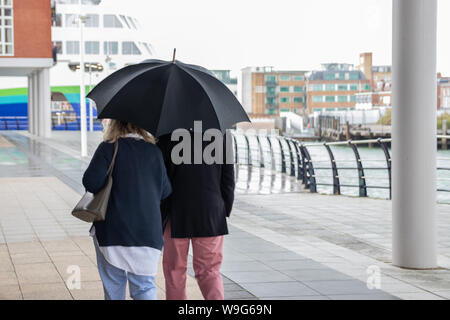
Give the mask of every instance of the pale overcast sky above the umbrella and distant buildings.
M 391 64 L 392 0 L 103 0 L 141 22 L 156 57 L 209 69 Z M 437 70 L 450 76 L 450 0 L 438 0 Z

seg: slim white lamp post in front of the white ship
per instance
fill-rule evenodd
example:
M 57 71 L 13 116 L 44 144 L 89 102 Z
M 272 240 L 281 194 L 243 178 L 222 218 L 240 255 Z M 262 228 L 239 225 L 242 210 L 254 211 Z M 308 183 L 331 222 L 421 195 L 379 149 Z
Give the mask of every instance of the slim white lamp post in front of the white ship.
M 81 156 L 87 156 L 87 124 L 86 124 L 86 88 L 84 86 L 84 40 L 83 40 L 83 1 L 80 1 L 80 131 Z

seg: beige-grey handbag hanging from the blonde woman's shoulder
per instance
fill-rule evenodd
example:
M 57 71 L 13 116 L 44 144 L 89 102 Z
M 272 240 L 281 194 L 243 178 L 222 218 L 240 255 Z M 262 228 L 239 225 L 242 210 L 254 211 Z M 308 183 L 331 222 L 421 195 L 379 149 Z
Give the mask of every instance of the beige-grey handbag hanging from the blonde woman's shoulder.
M 72 210 L 72 215 L 80 220 L 86 222 L 103 221 L 105 220 L 106 210 L 108 208 L 109 196 L 112 188 L 112 171 L 114 168 L 114 162 L 116 161 L 117 149 L 119 143 L 116 140 L 114 143 L 114 154 L 107 171 L 107 180 L 105 186 L 96 194 L 92 194 L 88 191 L 83 195 L 81 200 Z

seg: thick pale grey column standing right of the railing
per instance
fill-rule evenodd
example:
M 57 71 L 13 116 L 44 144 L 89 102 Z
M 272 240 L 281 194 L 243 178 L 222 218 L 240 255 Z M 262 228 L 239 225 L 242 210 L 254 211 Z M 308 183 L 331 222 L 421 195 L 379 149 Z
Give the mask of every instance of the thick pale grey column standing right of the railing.
M 437 266 L 437 0 L 394 0 L 392 253 L 406 268 Z

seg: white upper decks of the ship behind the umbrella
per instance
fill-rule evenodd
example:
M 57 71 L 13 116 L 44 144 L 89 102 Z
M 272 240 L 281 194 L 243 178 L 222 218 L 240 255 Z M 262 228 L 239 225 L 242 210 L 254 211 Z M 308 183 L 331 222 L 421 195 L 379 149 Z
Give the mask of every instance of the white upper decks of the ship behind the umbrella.
M 56 0 L 52 41 L 57 64 L 51 69 L 52 86 L 80 83 L 80 11 L 83 26 L 86 84 L 98 83 L 125 65 L 152 56 L 152 45 L 139 21 L 108 0 Z

